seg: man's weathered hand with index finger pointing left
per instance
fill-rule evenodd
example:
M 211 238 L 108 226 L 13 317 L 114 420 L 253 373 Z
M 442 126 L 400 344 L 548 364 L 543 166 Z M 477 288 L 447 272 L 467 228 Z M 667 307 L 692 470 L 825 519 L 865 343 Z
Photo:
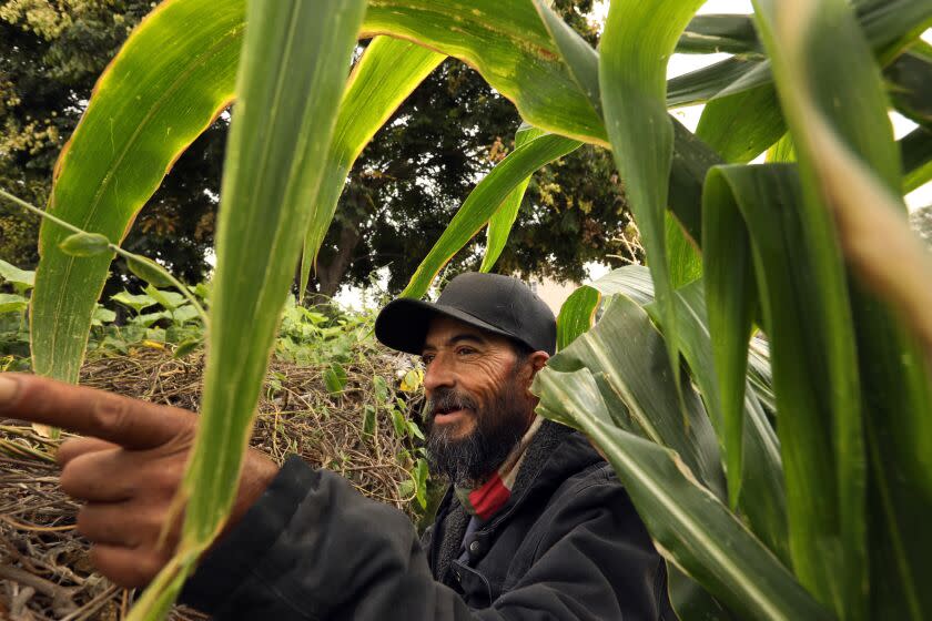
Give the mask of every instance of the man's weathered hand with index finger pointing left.
M 171 558 L 181 517 L 170 526 L 197 416 L 191 411 L 30 375 L 0 375 L 0 416 L 41 423 L 87 437 L 61 445 L 61 486 L 85 505 L 78 531 L 93 542 L 91 561 L 122 587 L 148 584 Z M 227 528 L 255 502 L 277 466 L 246 455 Z

